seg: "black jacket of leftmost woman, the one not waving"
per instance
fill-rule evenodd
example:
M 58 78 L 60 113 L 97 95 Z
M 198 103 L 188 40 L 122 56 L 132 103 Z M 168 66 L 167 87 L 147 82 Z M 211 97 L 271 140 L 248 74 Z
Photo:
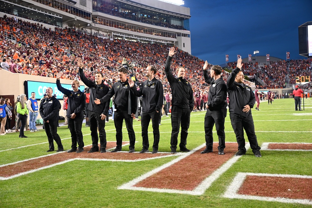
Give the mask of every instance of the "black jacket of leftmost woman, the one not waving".
M 52 96 L 52 98 L 45 98 L 40 103 L 39 112 L 44 121 L 58 120 L 60 101 Z

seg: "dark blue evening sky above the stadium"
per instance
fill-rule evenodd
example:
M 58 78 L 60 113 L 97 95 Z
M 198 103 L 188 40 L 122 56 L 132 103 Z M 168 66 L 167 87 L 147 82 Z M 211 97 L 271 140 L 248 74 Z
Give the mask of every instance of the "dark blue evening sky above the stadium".
M 184 0 L 191 10 L 192 55 L 212 64 L 237 55 L 301 59 L 298 26 L 312 21 L 312 0 Z

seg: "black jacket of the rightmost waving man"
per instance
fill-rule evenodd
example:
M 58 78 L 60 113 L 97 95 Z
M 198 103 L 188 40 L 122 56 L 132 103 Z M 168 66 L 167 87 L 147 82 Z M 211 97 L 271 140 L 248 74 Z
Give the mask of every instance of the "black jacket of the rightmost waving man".
M 236 114 L 241 118 L 247 118 L 251 116 L 251 109 L 255 104 L 255 94 L 251 87 L 243 84 L 243 87 L 238 82 L 235 82 L 236 74 L 240 72 L 239 68 L 232 70 L 230 76 L 228 77 L 227 90 L 229 93 L 229 111 L 230 113 Z M 243 112 L 244 106 L 249 105 L 250 111 L 247 113 Z

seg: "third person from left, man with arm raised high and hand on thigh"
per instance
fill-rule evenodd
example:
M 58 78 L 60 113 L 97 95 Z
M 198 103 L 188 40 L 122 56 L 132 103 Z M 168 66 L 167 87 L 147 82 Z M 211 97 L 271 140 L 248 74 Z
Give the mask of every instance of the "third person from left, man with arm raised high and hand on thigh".
M 87 79 L 83 73 L 83 63 L 81 58 L 78 58 L 77 65 L 79 67 L 79 76 L 84 84 L 90 88 L 90 102 L 89 110 L 89 125 L 92 137 L 92 148 L 88 153 L 99 151 L 97 129 L 100 134 L 101 153 L 106 152 L 106 132 L 105 132 L 105 118 L 108 116 L 109 101 L 102 104 L 95 104 L 94 101 L 104 97 L 109 88 L 104 84 L 103 74 L 96 73 L 94 76 L 95 83 Z

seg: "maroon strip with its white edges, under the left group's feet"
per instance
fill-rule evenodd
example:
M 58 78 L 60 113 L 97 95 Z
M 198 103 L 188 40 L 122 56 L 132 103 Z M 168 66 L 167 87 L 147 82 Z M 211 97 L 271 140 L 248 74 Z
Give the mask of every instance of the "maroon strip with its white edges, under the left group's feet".
M 125 146 L 125 145 L 129 145 L 129 142 L 123 142 L 122 146 Z M 90 148 L 91 146 L 92 145 L 88 145 L 88 147 Z M 110 149 L 107 149 L 107 150 L 115 149 L 114 144 L 108 143 L 107 147 L 111 147 Z M 19 177 L 21 175 L 27 175 L 29 173 L 51 168 L 56 165 L 65 164 L 67 162 L 71 162 L 74 160 L 137 162 L 137 161 L 154 160 L 154 159 L 159 159 L 159 158 L 180 156 L 183 154 L 183 153 L 169 154 L 167 152 L 165 153 L 158 152 L 157 154 L 148 154 L 148 153 L 139 154 L 138 152 L 128 153 L 125 151 L 116 152 L 116 153 L 99 153 L 99 152 L 87 153 L 87 151 L 90 148 L 85 148 L 85 151 L 82 153 L 57 152 L 57 153 L 43 155 L 40 157 L 22 160 L 22 161 L 10 163 L 10 164 L 0 165 L 0 180 L 9 180 L 12 178 Z

